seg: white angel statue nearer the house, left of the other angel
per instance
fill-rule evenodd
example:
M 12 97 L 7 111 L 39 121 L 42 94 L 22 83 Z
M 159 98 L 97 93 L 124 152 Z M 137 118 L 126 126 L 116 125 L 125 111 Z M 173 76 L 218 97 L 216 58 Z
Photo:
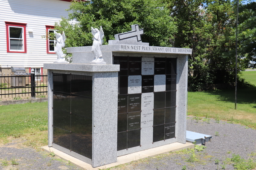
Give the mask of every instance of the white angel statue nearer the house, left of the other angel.
M 67 61 L 64 59 L 65 55 L 63 54 L 62 48 L 65 46 L 65 40 L 66 36 L 64 31 L 62 31 L 62 35 L 60 33 L 57 33 L 54 31 L 55 37 L 56 37 L 56 46 L 54 48 L 54 52 L 57 54 L 57 60 L 55 62 L 62 62 L 67 63 Z

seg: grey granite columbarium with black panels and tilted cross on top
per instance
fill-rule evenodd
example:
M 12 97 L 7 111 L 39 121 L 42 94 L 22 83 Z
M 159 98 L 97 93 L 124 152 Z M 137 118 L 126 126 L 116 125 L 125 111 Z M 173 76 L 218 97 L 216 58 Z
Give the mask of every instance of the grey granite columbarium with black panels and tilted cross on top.
M 73 63 L 44 64 L 49 147 L 99 167 L 118 156 L 186 143 L 192 49 L 149 46 L 143 29 L 131 28 L 101 46 L 102 33 L 92 28 L 94 47 L 67 48 Z M 101 56 L 106 64 L 90 64 Z

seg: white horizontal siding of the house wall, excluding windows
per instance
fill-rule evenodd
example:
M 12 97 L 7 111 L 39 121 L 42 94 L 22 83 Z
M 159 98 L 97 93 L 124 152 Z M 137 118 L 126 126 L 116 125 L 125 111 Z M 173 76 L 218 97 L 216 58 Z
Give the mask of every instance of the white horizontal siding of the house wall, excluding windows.
M 52 63 L 56 54 L 47 54 L 46 25 L 54 26 L 61 17 L 68 17 L 70 2 L 61 0 L 0 0 L 0 65 L 2 68 L 23 66 L 41 68 Z M 7 53 L 7 22 L 26 23 L 26 53 Z M 28 29 L 32 28 L 33 33 Z M 8 65 L 8 66 L 7 66 Z

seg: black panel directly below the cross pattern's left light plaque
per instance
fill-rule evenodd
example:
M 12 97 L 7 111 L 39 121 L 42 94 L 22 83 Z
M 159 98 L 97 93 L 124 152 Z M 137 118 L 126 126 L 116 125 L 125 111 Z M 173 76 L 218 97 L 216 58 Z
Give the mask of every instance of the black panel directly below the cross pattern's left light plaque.
M 141 94 L 128 95 L 128 112 L 141 110 Z

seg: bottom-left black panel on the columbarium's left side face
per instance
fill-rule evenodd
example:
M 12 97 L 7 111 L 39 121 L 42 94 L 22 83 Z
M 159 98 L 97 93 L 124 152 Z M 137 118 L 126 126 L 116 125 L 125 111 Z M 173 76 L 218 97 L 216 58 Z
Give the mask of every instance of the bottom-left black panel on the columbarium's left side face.
M 58 144 L 68 150 L 71 149 L 70 131 L 53 127 L 53 143 Z

